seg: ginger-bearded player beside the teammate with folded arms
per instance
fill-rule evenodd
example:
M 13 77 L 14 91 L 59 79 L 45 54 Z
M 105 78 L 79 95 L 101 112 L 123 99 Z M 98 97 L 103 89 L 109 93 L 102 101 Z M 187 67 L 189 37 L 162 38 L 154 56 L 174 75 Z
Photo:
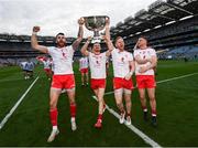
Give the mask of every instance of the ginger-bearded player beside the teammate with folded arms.
M 133 89 L 132 75 L 134 72 L 133 55 L 124 50 L 124 41 L 121 36 L 116 39 L 116 47 L 111 41 L 108 43 L 108 47 L 112 51 L 111 55 L 114 75 L 113 88 L 116 103 L 120 110 L 120 124 L 124 123 L 127 109 L 127 125 L 131 125 L 131 94 Z M 125 107 L 122 102 L 123 95 Z

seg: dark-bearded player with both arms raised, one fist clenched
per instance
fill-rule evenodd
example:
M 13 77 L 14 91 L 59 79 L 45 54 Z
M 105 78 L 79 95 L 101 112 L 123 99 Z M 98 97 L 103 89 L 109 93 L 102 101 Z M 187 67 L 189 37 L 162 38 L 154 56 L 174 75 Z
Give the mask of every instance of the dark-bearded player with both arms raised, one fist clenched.
M 70 121 L 72 129 L 76 130 L 76 102 L 75 102 L 75 77 L 73 71 L 73 56 L 75 50 L 77 50 L 79 43 L 82 40 L 82 24 L 84 19 L 80 18 L 78 20 L 79 23 L 79 32 L 77 40 L 69 46 L 66 46 L 66 38 L 64 33 L 58 33 L 56 35 L 56 44 L 57 46 L 44 46 L 37 43 L 36 33 L 40 31 L 40 27 L 33 28 L 33 33 L 31 38 L 32 47 L 42 53 L 48 53 L 54 62 L 54 75 L 51 85 L 50 93 L 50 117 L 53 126 L 51 136 L 47 141 L 51 142 L 54 140 L 55 136 L 59 133 L 57 128 L 57 101 L 61 95 L 63 88 L 66 89 L 69 104 L 70 104 Z

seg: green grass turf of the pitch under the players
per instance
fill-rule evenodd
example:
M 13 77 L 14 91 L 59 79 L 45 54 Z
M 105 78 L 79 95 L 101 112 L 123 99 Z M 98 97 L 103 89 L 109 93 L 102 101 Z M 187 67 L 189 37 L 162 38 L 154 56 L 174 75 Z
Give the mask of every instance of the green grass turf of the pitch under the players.
M 105 113 L 103 127 L 95 129 L 97 102 L 91 98 L 89 87 L 80 86 L 78 65 L 74 65 L 76 76 L 77 131 L 72 131 L 69 104 L 65 94 L 58 101 L 58 127 L 61 134 L 52 142 L 46 139 L 51 133 L 48 119 L 50 82 L 42 67 L 37 66 L 38 81 L 24 101 L 0 130 L 0 146 L 150 146 L 139 136 L 120 125 L 109 112 Z M 164 61 L 158 63 L 156 81 L 198 72 L 198 62 Z M 0 70 L 0 120 L 23 95 L 33 80 L 23 80 L 19 67 Z M 133 77 L 134 78 L 134 77 Z M 198 146 L 198 75 L 157 84 L 157 128 L 151 120 L 144 121 L 138 91 L 132 94 L 132 123 L 161 146 Z M 112 67 L 109 71 L 107 91 L 112 91 Z M 105 96 L 107 104 L 118 112 L 113 94 Z M 147 103 L 148 104 L 148 103 Z M 150 112 L 151 113 L 151 112 Z

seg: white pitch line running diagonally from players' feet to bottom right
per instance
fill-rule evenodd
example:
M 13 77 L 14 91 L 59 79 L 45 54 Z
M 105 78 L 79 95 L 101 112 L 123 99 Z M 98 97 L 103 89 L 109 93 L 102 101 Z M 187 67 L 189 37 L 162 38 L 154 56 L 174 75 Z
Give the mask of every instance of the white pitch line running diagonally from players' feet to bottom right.
M 95 98 L 97 101 L 96 96 L 92 96 L 92 98 Z M 98 102 L 98 101 L 97 101 Z M 114 117 L 117 117 L 118 119 L 120 118 L 120 115 L 114 112 L 112 108 L 110 108 L 107 104 L 106 104 L 107 109 L 109 110 L 109 113 L 111 113 L 112 115 L 114 115 Z M 156 141 L 154 141 L 153 139 L 151 139 L 148 136 L 146 136 L 144 133 L 142 133 L 140 129 L 138 129 L 136 127 L 134 127 L 133 125 L 127 125 L 125 120 L 124 120 L 124 125 L 130 128 L 132 131 L 134 131 L 138 136 L 140 136 L 146 144 L 148 144 L 152 147 L 162 147 L 160 146 Z

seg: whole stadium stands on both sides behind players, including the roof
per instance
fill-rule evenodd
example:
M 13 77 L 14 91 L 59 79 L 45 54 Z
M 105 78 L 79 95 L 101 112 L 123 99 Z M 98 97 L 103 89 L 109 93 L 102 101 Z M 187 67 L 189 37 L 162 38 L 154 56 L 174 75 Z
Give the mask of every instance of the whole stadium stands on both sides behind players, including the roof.
M 168 49 L 169 52 L 158 55 L 161 59 L 166 59 L 170 54 L 172 57 L 197 57 L 196 8 L 197 0 L 157 0 L 150 4 L 147 10 L 140 10 L 134 17 L 128 17 L 123 22 L 111 27 L 112 40 L 120 35 L 125 40 L 127 49 L 132 50 L 138 39 L 145 36 L 155 50 Z M 0 34 L 0 63 L 8 63 L 8 59 L 20 60 L 41 55 L 31 49 L 30 39 L 29 35 Z M 67 43 L 72 44 L 75 38 L 67 38 Z M 38 36 L 38 42 L 51 46 L 55 44 L 55 38 Z M 81 56 L 79 50 L 75 52 L 75 56 Z

